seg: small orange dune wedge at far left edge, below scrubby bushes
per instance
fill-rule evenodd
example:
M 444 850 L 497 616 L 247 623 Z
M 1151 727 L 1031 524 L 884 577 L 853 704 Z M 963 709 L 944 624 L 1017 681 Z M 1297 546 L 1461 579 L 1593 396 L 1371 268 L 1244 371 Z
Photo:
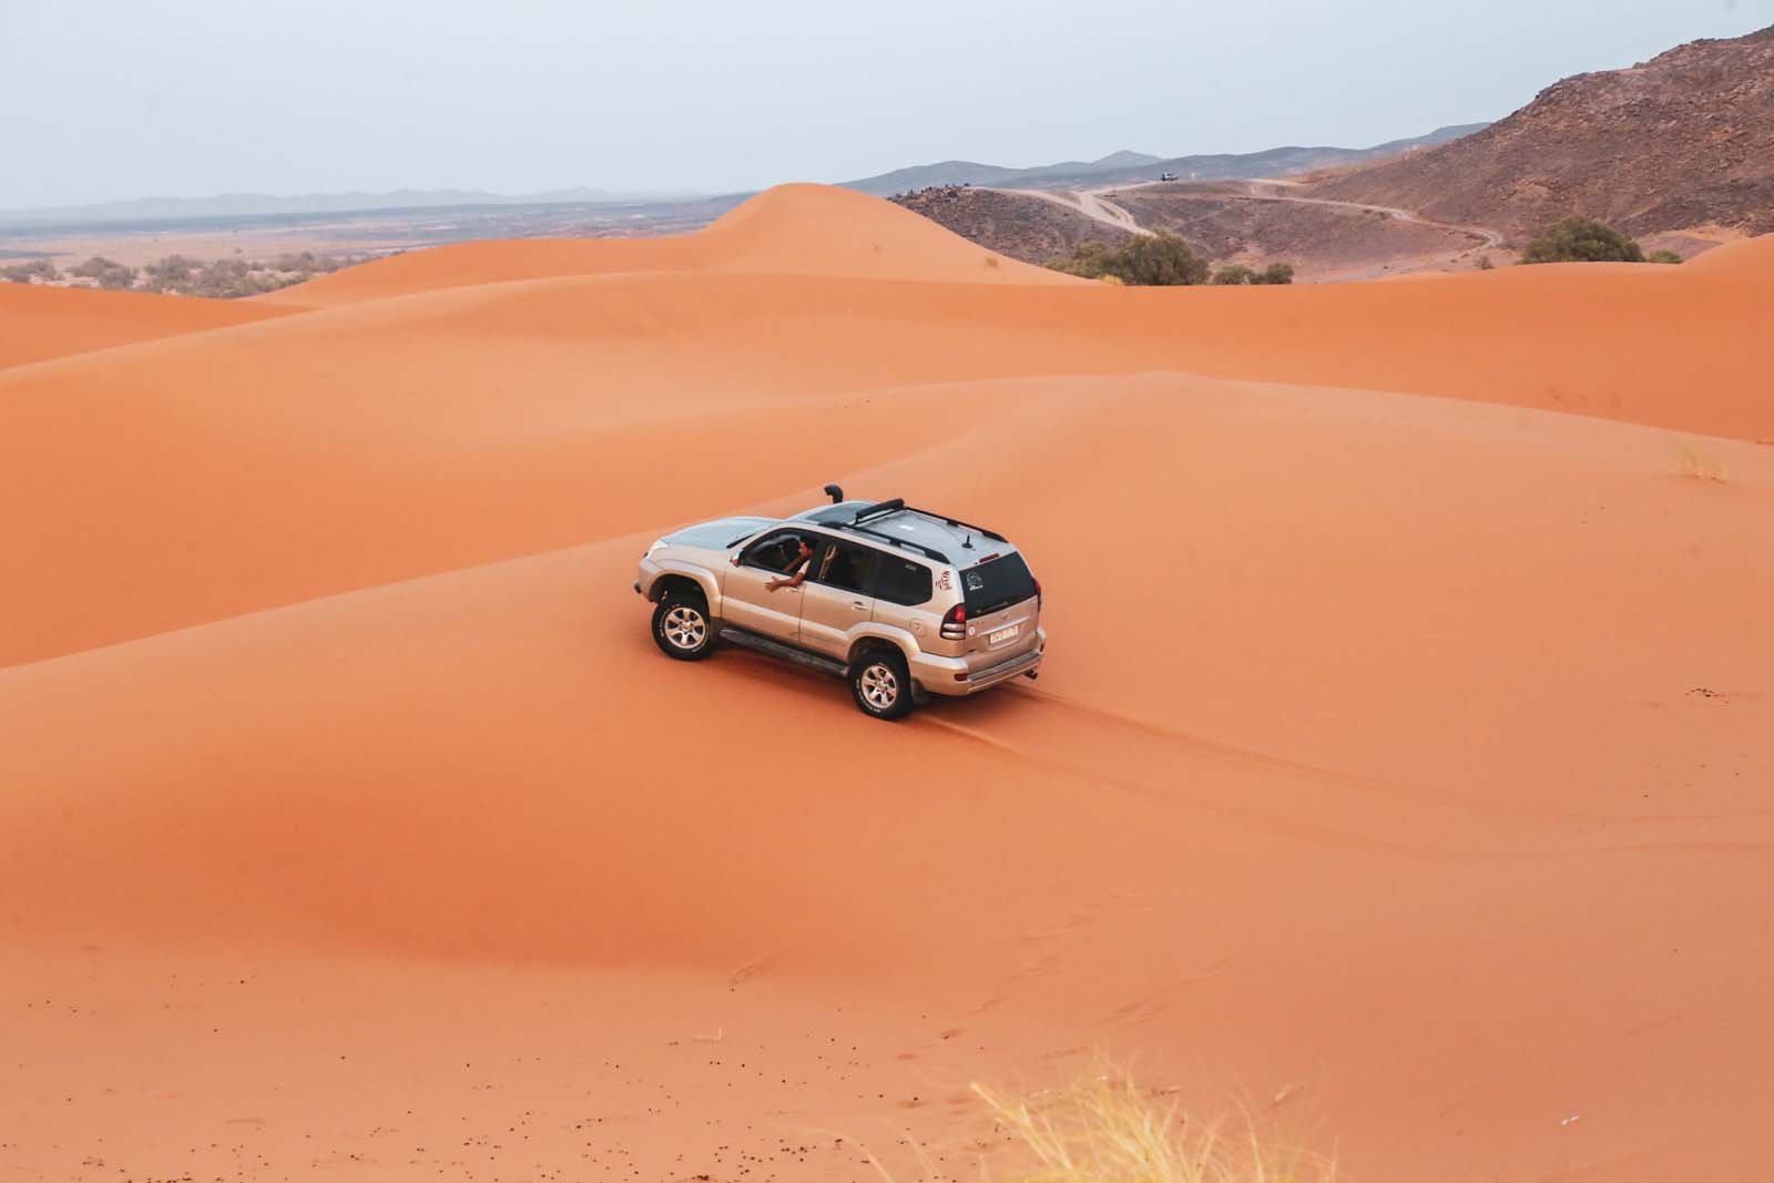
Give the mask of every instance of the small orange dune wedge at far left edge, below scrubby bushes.
M 0 284 L 0 369 L 282 316 L 239 300 Z

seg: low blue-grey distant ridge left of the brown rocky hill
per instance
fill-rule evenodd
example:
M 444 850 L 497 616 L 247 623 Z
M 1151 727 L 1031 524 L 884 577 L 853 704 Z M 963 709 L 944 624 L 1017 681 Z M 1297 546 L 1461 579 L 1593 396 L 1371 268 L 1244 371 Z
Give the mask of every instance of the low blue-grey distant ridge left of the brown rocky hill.
M 1102 160 L 1066 160 L 1034 168 L 1004 168 L 970 160 L 946 160 L 935 165 L 896 168 L 860 181 L 846 181 L 844 188 L 891 197 L 912 190 L 942 184 L 983 184 L 992 188 L 1080 188 L 1100 184 L 1126 184 L 1155 181 L 1160 172 L 1174 172 L 1197 181 L 1245 181 L 1251 177 L 1286 176 L 1315 168 L 1355 165 L 1380 156 L 1396 156 L 1419 147 L 1446 144 L 1471 135 L 1487 124 L 1439 128 L 1409 140 L 1391 140 L 1373 147 L 1272 147 L 1263 153 L 1221 153 L 1210 156 L 1150 156 L 1146 153 L 1111 153 Z

